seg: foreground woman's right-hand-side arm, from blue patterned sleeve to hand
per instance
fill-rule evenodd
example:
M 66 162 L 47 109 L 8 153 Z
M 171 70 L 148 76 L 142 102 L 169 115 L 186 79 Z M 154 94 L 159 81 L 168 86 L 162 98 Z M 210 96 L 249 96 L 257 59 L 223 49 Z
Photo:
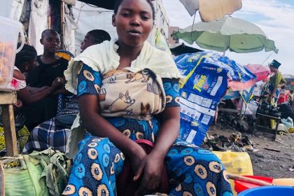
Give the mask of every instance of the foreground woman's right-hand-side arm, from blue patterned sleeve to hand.
M 176 84 L 178 84 L 178 90 L 174 90 Z M 179 80 L 165 79 L 165 85 L 172 86 L 169 90 L 165 90 L 165 94 L 172 97 L 172 102 L 169 102 L 165 110 L 160 113 L 161 125 L 155 146 L 151 153 L 144 158 L 137 174 L 134 176 L 134 180 L 137 180 L 144 171 L 137 195 L 146 195 L 150 193 L 150 190 L 155 190 L 160 185 L 165 157 L 169 148 L 174 144 L 176 138 L 179 137 L 180 107 L 179 103 L 176 102 L 176 97 L 179 97 Z

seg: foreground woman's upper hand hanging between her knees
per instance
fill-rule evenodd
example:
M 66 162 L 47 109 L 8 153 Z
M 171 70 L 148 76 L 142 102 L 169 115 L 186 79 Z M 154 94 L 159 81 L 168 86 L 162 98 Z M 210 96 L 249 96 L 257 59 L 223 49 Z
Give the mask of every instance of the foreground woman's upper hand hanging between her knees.
M 143 178 L 136 195 L 146 195 L 158 188 L 161 181 L 164 160 L 165 157 L 158 156 L 154 151 L 146 155 L 139 166 L 138 172 L 134 176 L 134 181 L 136 181 L 143 173 Z

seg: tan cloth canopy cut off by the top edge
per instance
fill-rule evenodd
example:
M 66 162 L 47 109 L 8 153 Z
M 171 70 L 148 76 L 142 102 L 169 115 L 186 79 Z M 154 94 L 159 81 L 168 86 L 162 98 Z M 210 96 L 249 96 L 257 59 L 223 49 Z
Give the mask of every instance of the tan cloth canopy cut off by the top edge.
M 180 0 L 192 16 L 199 10 L 204 22 L 223 18 L 241 9 L 241 0 Z

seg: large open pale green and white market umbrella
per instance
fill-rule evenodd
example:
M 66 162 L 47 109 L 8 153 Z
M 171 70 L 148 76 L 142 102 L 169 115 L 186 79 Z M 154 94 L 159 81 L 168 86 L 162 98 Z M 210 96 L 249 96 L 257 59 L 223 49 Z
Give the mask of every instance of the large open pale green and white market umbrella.
M 260 27 L 239 18 L 225 17 L 212 22 L 197 22 L 174 33 L 174 39 L 183 39 L 187 43 L 197 43 L 201 48 L 237 53 L 278 52 L 274 41 L 267 38 Z

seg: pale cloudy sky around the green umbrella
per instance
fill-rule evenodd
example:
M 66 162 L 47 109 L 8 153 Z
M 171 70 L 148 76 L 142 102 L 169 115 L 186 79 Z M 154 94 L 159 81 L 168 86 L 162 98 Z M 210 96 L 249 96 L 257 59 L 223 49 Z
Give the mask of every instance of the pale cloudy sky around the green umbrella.
M 181 29 L 192 25 L 193 17 L 179 0 L 162 1 L 169 16 L 169 25 Z M 282 73 L 294 75 L 294 0 L 243 0 L 242 5 L 241 10 L 237 10 L 232 16 L 258 25 L 274 41 L 279 52 L 276 54 L 263 50 L 238 54 L 227 51 L 225 55 L 244 65 L 262 64 L 267 57 L 264 64 L 276 59 L 282 64 Z M 200 15 L 197 13 L 195 22 L 199 21 Z M 196 44 L 193 47 L 200 48 Z

